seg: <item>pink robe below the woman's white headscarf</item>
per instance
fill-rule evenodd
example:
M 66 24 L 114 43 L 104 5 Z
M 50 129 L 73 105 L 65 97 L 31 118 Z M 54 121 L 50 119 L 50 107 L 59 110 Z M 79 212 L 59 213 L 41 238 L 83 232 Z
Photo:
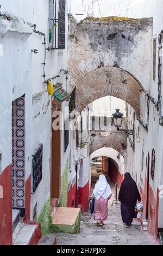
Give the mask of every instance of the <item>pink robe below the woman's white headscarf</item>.
M 109 198 L 104 199 L 103 197 L 99 198 L 98 200 L 95 199 L 93 212 L 95 221 L 98 221 L 98 219 L 106 221 L 108 219 L 108 200 Z

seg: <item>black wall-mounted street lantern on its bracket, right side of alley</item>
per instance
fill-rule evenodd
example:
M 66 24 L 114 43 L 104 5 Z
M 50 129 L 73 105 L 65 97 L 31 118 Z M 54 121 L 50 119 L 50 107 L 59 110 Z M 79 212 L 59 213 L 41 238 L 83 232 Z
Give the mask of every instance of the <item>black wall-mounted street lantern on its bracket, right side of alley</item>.
M 117 128 L 118 131 L 120 132 L 124 132 L 127 134 L 131 147 L 134 148 L 134 142 L 131 141 L 131 138 L 129 135 L 133 135 L 134 136 L 134 129 L 133 130 L 127 130 L 127 129 L 120 129 L 120 127 L 122 126 L 122 121 L 123 121 L 123 114 L 120 112 L 120 109 L 116 109 L 116 112 L 114 114 L 112 114 L 113 118 L 114 118 L 114 126 Z

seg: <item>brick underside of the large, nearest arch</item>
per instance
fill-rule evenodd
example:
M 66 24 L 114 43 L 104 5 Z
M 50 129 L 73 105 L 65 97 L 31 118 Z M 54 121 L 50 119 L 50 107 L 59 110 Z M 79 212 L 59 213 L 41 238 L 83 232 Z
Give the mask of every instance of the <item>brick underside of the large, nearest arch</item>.
M 129 103 L 140 117 L 140 82 L 126 70 L 117 67 L 98 67 L 76 78 L 76 108 L 79 112 L 91 102 L 105 96 L 114 96 Z

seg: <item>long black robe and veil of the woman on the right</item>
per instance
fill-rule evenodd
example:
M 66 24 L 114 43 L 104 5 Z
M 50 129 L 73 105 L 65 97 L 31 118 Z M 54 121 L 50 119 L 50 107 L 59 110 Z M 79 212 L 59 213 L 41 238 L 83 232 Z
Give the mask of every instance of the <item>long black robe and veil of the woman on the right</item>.
M 136 182 L 129 172 L 124 175 L 124 181 L 121 184 L 118 200 L 121 201 L 122 221 L 131 224 L 135 217 L 135 205 L 137 200 L 141 201 Z

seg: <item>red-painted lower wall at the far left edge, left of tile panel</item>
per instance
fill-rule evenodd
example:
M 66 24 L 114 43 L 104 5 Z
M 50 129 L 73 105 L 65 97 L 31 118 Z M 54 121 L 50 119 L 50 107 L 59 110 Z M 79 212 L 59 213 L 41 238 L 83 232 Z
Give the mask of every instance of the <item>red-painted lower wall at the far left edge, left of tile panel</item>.
M 0 175 L 3 190 L 0 197 L 0 245 L 12 245 L 12 166 L 9 165 Z

